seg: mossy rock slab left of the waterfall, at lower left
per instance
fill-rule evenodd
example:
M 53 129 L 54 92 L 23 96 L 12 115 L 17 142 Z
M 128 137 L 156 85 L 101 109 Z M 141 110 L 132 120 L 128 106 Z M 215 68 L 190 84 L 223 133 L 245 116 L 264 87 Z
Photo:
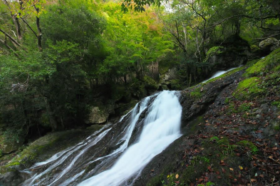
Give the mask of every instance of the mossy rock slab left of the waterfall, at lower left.
M 68 147 L 76 145 L 99 130 L 102 125 L 94 125 L 86 130 L 72 129 L 54 132 L 35 140 L 19 152 L 7 165 L 0 166 L 0 186 L 19 186 L 30 175 L 21 172 L 35 162 L 42 162 Z M 43 170 L 40 170 L 43 171 Z

